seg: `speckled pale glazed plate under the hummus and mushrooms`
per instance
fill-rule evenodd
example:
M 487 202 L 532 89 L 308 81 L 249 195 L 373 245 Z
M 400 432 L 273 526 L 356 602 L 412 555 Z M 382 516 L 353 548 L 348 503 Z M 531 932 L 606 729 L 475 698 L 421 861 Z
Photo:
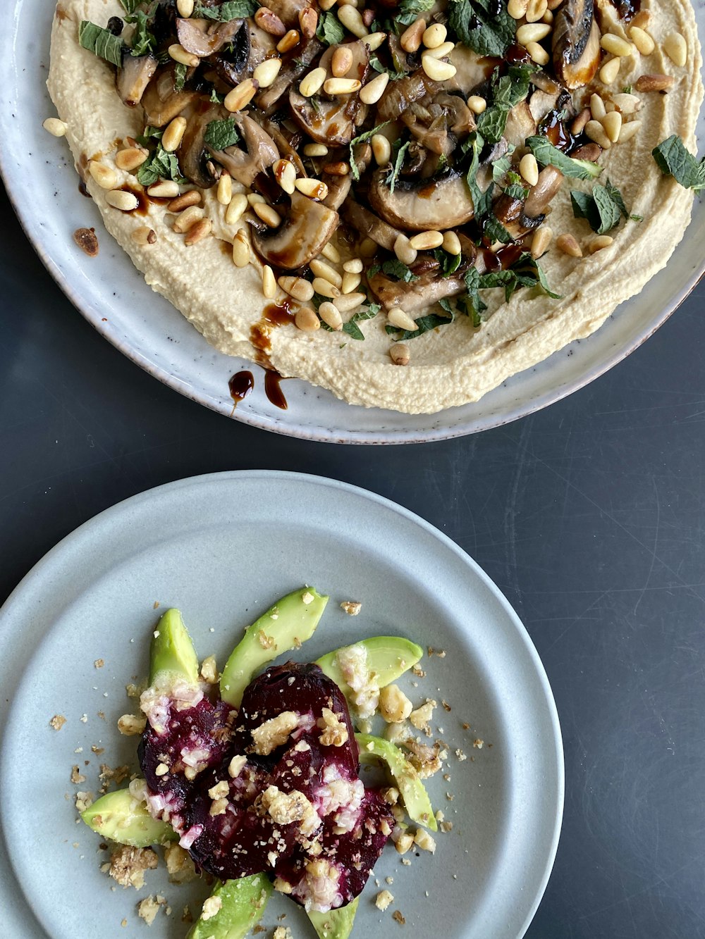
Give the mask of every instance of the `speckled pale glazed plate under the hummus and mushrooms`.
M 8 0 L 6 0 L 6 3 Z M 405 443 L 460 437 L 524 414 L 570 394 L 640 346 L 697 284 L 705 269 L 705 207 L 696 202 L 686 238 L 642 293 L 587 340 L 512 377 L 477 404 L 440 414 L 409 416 L 351 407 L 299 380 L 283 388 L 289 410 L 267 400 L 261 371 L 257 387 L 233 413 L 227 381 L 246 362 L 215 352 L 176 310 L 145 285 L 128 256 L 107 234 L 101 254 L 86 258 L 71 233 L 100 215 L 78 192 L 69 147 L 41 128 L 53 115 L 44 80 L 54 0 L 10 0 L 0 18 L 0 167 L 27 235 L 57 283 L 90 323 L 151 375 L 171 388 L 244 423 L 305 439 L 352 443 Z M 704 0 L 694 0 L 701 38 Z M 19 104 L 18 104 L 19 102 Z M 700 126 L 700 137 L 702 131 Z

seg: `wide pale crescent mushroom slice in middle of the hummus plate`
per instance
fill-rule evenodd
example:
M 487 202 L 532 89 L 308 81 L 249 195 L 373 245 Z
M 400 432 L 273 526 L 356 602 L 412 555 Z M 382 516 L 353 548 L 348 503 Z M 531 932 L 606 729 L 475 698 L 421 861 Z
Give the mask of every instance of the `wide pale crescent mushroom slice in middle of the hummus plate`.
M 408 183 L 398 180 L 391 192 L 377 170 L 370 181 L 369 205 L 385 222 L 406 231 L 445 231 L 469 222 L 475 207 L 465 177 L 452 170 L 441 176 Z

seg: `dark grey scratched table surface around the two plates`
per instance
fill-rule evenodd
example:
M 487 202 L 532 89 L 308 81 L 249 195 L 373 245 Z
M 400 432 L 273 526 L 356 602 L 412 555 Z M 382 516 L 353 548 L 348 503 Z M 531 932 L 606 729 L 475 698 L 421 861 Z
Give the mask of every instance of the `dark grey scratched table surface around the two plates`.
M 507 595 L 556 696 L 565 816 L 527 936 L 705 936 L 705 284 L 538 414 L 344 447 L 228 421 L 140 371 L 64 298 L 4 191 L 0 217 L 0 601 L 87 518 L 184 476 L 303 470 L 395 500 Z

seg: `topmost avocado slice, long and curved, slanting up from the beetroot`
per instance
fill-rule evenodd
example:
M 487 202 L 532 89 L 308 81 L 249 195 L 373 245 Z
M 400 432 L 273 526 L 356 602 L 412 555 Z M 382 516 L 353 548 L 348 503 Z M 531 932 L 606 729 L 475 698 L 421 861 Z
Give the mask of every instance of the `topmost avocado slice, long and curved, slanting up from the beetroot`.
M 288 593 L 248 626 L 220 676 L 220 697 L 240 707 L 243 692 L 257 672 L 277 655 L 298 649 L 319 624 L 327 596 L 313 587 Z

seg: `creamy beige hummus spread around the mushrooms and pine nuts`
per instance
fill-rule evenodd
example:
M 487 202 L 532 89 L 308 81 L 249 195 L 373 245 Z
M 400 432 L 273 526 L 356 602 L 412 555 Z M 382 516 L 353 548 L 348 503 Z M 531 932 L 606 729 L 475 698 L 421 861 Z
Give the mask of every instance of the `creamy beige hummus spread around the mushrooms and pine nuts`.
M 550 6 L 556 8 L 556 3 Z M 630 38 L 630 25 L 618 19 L 615 8 L 607 3 L 596 3 L 596 10 L 599 9 L 607 20 L 611 17 L 614 35 Z M 388 9 L 380 10 L 389 13 Z M 558 12 L 556 9 L 555 17 Z M 431 13 L 421 15 L 429 17 L 431 23 Z M 624 126 L 633 121 L 640 121 L 640 125 L 628 140 L 613 143 L 602 153 L 598 148 L 597 162 L 603 172 L 597 180 L 566 178 L 550 203 L 550 215 L 544 227 L 550 226 L 553 239 L 545 254 L 541 254 L 540 267 L 551 291 L 559 296 L 554 298 L 539 288 L 525 287 L 505 301 L 503 289 L 483 290 L 482 300 L 488 309 L 479 326 L 473 325 L 471 316 L 456 315 L 447 325 L 426 331 L 417 338 L 404 339 L 406 356 L 395 352 L 395 346 L 402 345 L 395 343 L 399 332 L 387 331 L 389 303 L 383 302 L 376 316 L 358 324 L 365 337 L 363 341 L 354 339 L 347 331 L 297 329 L 293 316 L 291 322 L 282 324 L 280 320 L 288 317 L 268 315 L 265 312 L 268 304 L 281 303 L 287 295 L 277 288 L 274 299 L 265 298 L 262 263 L 256 254 L 252 254 L 251 263 L 246 267 L 239 268 L 233 263 L 229 243 L 236 239 L 241 226 L 247 229 L 250 213 L 245 213 L 237 223 L 228 224 L 227 206 L 218 201 L 217 185 L 201 190 L 202 203 L 196 216 L 209 219 L 211 230 L 207 237 L 191 245 L 186 245 L 183 233 L 174 231 L 175 215 L 164 199 L 148 200 L 147 205 L 133 211 L 123 211 L 110 204 L 110 191 L 103 189 L 86 172 L 86 167 L 88 162 L 98 162 L 115 174 L 113 188 L 141 191 L 142 187 L 135 181 L 136 171 L 120 170 L 115 160 L 118 151 L 126 146 L 126 138 L 142 134 L 145 116 L 141 106 L 127 107 L 122 103 L 116 90 L 116 69 L 82 48 L 78 36 L 82 21 L 104 26 L 109 17 L 124 17 L 125 9 L 118 0 L 59 0 L 48 86 L 58 115 L 67 125 L 67 138 L 77 169 L 102 212 L 106 228 L 130 254 L 149 286 L 173 303 L 212 346 L 227 355 L 260 362 L 282 376 L 304 378 L 351 404 L 406 413 L 432 413 L 477 401 L 509 376 L 597 330 L 620 302 L 638 293 L 650 277 L 666 265 L 682 239 L 690 221 L 693 192 L 683 188 L 675 178 L 664 176 L 651 150 L 672 134 L 681 137 L 692 152 L 696 149 L 695 125 L 703 89 L 695 15 L 686 0 L 642 0 L 639 15 L 639 22 L 644 23 L 645 30 L 655 40 L 653 51 L 641 54 L 633 47 L 631 54 L 619 59 L 619 74 L 610 85 L 605 85 L 595 75 L 588 85 L 577 87 L 572 91 L 569 115 L 564 115 L 566 124 L 570 124 L 581 108 L 589 106 L 590 94 L 595 91 L 607 102 L 607 110 L 614 108 L 614 102 L 609 102 L 631 86 L 632 94 L 638 99 L 632 103 L 638 110 L 625 108 L 625 112 L 630 113 L 622 115 L 622 120 Z M 524 23 L 525 20 L 517 21 L 517 26 Z M 601 24 L 603 32 L 606 31 L 604 19 Z M 668 48 L 666 40 L 674 33 L 680 34 L 684 41 L 686 52 L 682 65 L 677 65 L 664 48 L 665 42 Z M 354 37 L 346 35 L 346 40 L 350 39 Z M 544 48 L 550 50 L 550 38 L 541 41 Z M 532 49 L 530 41 L 526 40 L 525 44 Z M 451 64 L 458 64 L 459 72 L 462 51 L 457 45 L 446 57 Z M 600 68 L 611 58 L 612 54 L 603 53 Z M 550 69 L 550 65 L 547 66 L 549 73 Z M 375 74 L 371 72 L 368 81 Z M 667 93 L 636 90 L 640 76 L 645 74 L 672 76 L 673 85 Z M 603 76 L 603 72 L 599 75 Z M 447 84 L 453 82 L 451 79 Z M 394 84 L 390 82 L 388 88 Z M 600 116 L 599 104 L 594 99 L 592 114 L 588 116 L 593 119 Z M 557 117 L 561 119 L 561 115 Z M 368 120 L 356 132 L 367 131 L 369 123 Z M 399 135 L 393 122 L 384 132 L 387 137 Z M 581 140 L 590 144 L 587 138 Z M 524 152 L 525 148 L 519 147 L 512 154 L 514 172 L 518 171 L 519 157 Z M 611 242 L 601 242 L 596 240 L 598 235 L 586 220 L 574 217 L 570 193 L 590 192 L 595 181 L 605 183 L 607 178 L 619 189 L 630 218 L 609 231 Z M 459 179 L 464 185 L 463 178 Z M 525 179 L 521 182 L 525 183 Z M 189 188 L 193 187 L 181 187 L 181 190 Z M 250 192 L 235 180 L 232 190 Z M 343 208 L 340 211 L 342 213 Z M 139 243 L 138 230 L 145 228 L 155 233 L 155 243 Z M 350 244 L 343 232 L 343 228 L 338 228 L 333 237 L 341 260 L 326 262 L 341 274 L 342 262 L 360 254 L 356 250 L 358 246 Z M 409 230 L 406 234 L 413 237 Z M 561 235 L 572 235 L 583 256 L 567 253 L 565 241 L 559 238 Z M 530 251 L 535 237 L 530 230 L 520 236 L 525 251 Z M 605 246 L 595 250 L 602 243 Z M 488 249 L 501 247 L 488 239 L 484 244 L 486 247 L 481 251 L 485 254 Z M 568 251 L 571 250 L 569 244 Z M 422 254 L 419 252 L 419 257 Z M 433 254 L 429 253 L 429 257 L 433 258 Z M 368 268 L 376 260 L 365 258 L 366 271 L 359 290 L 366 289 Z M 275 269 L 274 273 L 278 277 L 279 274 L 289 275 L 291 271 Z M 312 279 L 312 274 L 307 276 Z M 368 297 L 370 301 L 379 299 L 372 293 Z M 335 301 L 336 298 L 332 298 L 332 302 Z M 310 303 L 297 304 L 288 298 L 288 305 L 293 314 L 297 305 L 310 306 Z M 403 307 L 403 302 L 399 305 Z M 368 306 L 363 308 L 368 309 Z M 342 312 L 342 319 L 350 319 L 354 312 Z M 428 312 L 443 315 L 438 306 L 433 306 L 432 311 L 415 309 L 410 315 L 416 319 Z M 402 367 L 390 353 L 397 362 L 407 358 L 408 363 Z

